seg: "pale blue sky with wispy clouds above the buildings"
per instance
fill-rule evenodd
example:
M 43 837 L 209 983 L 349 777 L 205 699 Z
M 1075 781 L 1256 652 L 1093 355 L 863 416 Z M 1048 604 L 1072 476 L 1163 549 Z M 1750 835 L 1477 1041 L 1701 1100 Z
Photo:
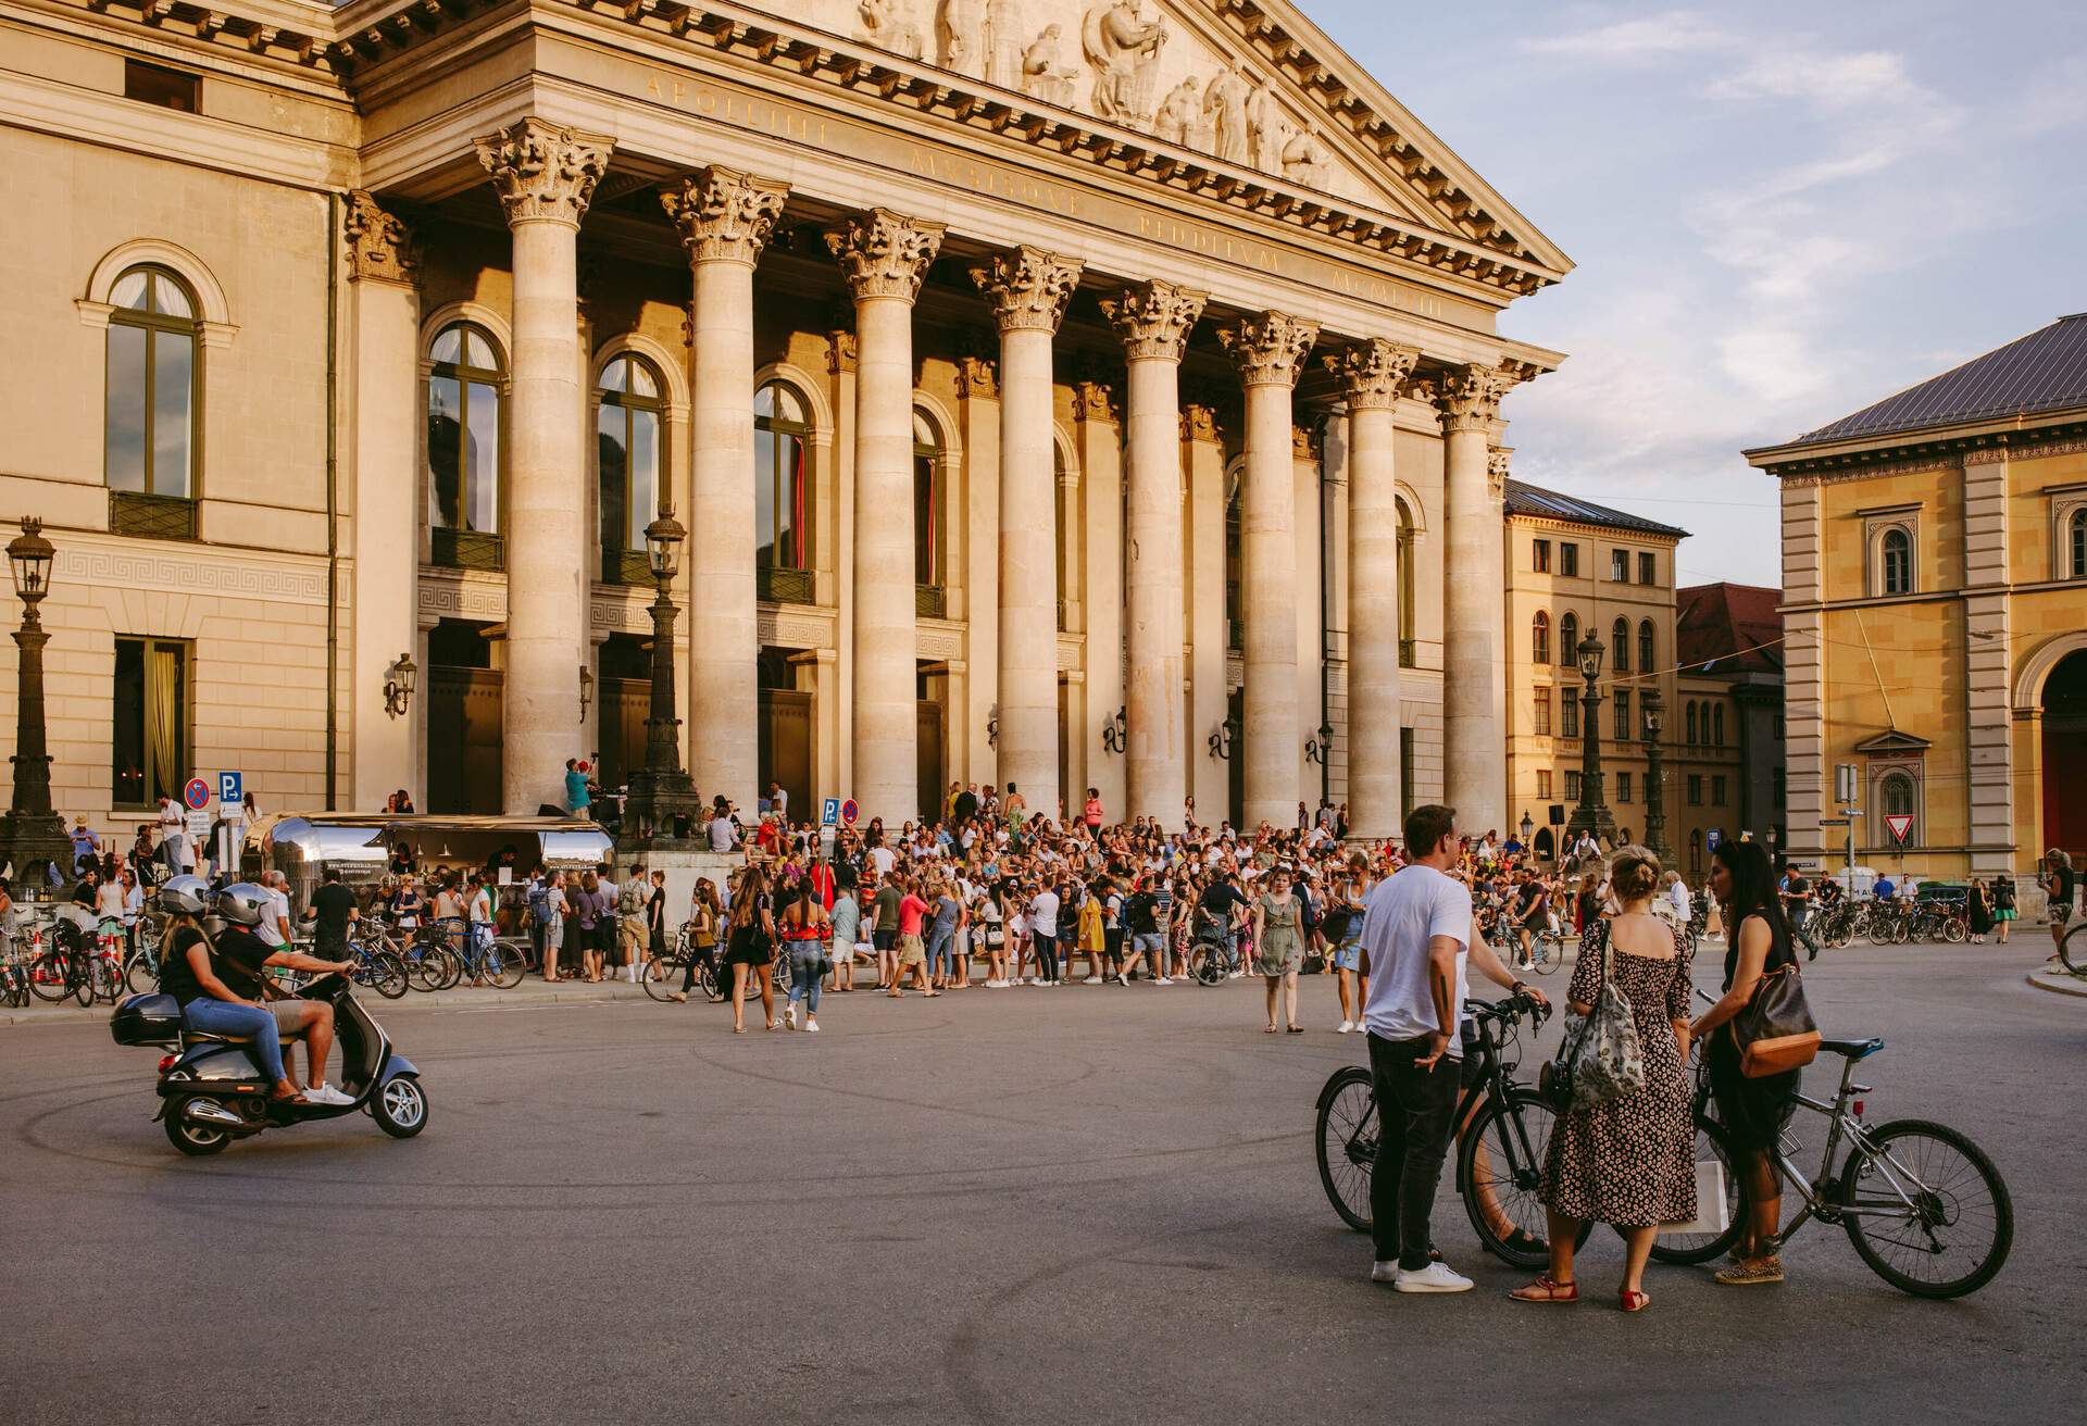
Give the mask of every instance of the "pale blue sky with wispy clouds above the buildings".
M 1780 585 L 1791 441 L 2087 311 L 2087 4 L 1300 0 L 1576 263 L 1507 336 L 1515 476 Z M 1386 23 L 1390 15 L 1390 23 Z

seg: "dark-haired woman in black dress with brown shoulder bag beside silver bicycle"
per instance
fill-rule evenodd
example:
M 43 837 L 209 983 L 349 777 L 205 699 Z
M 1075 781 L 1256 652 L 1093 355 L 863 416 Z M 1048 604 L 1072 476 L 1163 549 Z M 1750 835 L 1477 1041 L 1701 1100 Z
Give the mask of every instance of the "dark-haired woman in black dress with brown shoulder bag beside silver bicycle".
M 1747 1190 L 1749 1223 L 1738 1238 L 1738 1263 L 1718 1274 L 1726 1286 L 1782 1282 L 1776 1232 L 1782 1223 L 1782 1184 L 1776 1178 L 1776 1138 L 1795 1109 L 1799 1071 L 1749 1079 L 1730 1021 L 1747 1008 L 1761 975 L 1789 965 L 1791 927 L 1776 896 L 1776 871 L 1759 841 L 1720 841 L 1711 854 L 1709 892 L 1724 906 L 1724 998 L 1703 1013 L 1688 1038 L 1703 1046 L 1718 1121 L 1732 1140 L 1734 1165 Z

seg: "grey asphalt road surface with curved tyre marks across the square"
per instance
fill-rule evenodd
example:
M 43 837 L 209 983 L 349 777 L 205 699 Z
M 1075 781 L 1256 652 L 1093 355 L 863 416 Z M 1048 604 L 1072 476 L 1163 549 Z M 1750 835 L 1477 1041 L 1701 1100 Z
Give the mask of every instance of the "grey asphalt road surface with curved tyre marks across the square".
M 1891 1040 L 1872 1119 L 1999 1163 L 1997 1282 L 1914 1301 L 1812 1226 L 1789 1284 L 1653 1265 L 1636 1317 L 1607 1232 L 1590 1301 L 1505 1301 L 1526 1274 L 1448 1190 L 1436 1236 L 1478 1290 L 1365 1280 L 1313 1165 L 1319 1084 L 1365 1052 L 1323 979 L 1306 1036 L 1258 1033 L 1246 981 L 858 994 L 816 1038 L 378 1004 L 428 1073 L 424 1136 L 351 1117 L 205 1161 L 148 1121 L 152 1050 L 6 1027 L 0 1420 L 2070 1420 L 2087 1002 L 2029 958 L 1857 946 L 1809 977 L 1830 1033 Z

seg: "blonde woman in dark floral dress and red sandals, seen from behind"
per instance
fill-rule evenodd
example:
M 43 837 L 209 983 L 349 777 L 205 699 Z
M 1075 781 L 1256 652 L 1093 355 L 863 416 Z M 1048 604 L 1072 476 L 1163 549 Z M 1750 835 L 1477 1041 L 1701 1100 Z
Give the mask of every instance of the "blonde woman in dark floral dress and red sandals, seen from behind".
M 1624 1311 L 1640 1311 L 1645 1259 L 1661 1223 L 1695 1217 L 1695 1113 L 1688 1077 L 1688 960 L 1682 937 L 1651 912 L 1659 860 L 1624 848 L 1609 866 L 1620 912 L 1594 919 L 1580 937 L 1569 1000 L 1586 1015 L 1601 998 L 1603 960 L 1630 1004 L 1645 1056 L 1645 1086 L 1594 1109 L 1567 1111 L 1551 1134 L 1540 1196 L 1551 1217 L 1551 1271 L 1509 1297 L 1519 1303 L 1576 1303 L 1574 1242 L 1580 1223 L 1613 1223 L 1624 1234 Z

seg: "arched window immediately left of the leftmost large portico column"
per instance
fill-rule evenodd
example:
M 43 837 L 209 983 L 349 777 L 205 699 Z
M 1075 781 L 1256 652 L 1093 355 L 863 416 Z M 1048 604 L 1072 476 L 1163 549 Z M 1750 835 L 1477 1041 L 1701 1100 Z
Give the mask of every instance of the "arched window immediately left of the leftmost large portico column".
M 482 328 L 455 322 L 428 349 L 428 524 L 436 564 L 501 568 L 501 390 Z

